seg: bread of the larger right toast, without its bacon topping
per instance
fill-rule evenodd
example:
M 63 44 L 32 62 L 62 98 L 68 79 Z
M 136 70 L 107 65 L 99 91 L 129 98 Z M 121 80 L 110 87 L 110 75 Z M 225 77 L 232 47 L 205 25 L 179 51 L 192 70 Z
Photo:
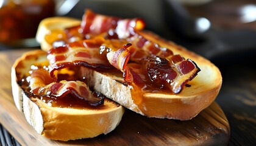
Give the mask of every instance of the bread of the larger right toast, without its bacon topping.
M 120 105 L 148 117 L 189 120 L 215 100 L 222 85 L 222 76 L 213 63 L 152 32 L 140 32 L 140 35 L 162 47 L 171 49 L 174 54 L 180 54 L 195 61 L 201 72 L 188 82 L 191 86 L 185 86 L 179 94 L 146 92 L 141 97 L 132 97 L 132 89 L 122 83 L 121 75 L 107 71 L 81 69 L 81 74 L 88 76 L 90 86 Z M 141 100 L 141 102 L 138 104 L 135 100 Z

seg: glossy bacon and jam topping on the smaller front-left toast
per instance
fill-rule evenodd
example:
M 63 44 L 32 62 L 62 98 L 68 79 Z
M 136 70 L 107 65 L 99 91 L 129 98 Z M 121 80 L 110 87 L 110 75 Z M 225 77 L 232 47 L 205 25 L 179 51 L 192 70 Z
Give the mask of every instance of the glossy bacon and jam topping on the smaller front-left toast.
M 46 64 L 35 63 L 19 85 L 28 97 L 39 98 L 48 106 L 60 108 L 93 108 L 104 104 L 105 96 L 91 90 L 76 74 L 77 68 L 65 68 L 49 75 Z M 81 81 L 80 81 L 81 80 Z

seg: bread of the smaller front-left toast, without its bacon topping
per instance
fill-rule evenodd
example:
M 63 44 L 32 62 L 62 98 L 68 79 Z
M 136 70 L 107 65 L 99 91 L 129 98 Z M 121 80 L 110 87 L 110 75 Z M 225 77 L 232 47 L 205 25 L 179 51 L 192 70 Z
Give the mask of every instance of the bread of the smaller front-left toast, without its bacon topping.
M 49 139 L 68 141 L 107 134 L 116 128 L 124 108 L 111 100 L 105 99 L 100 108 L 60 108 L 49 106 L 37 97 L 29 97 L 18 83 L 26 77 L 32 64 L 43 63 L 44 60 L 46 53 L 43 50 L 27 52 L 15 61 L 11 75 L 15 104 L 39 134 Z

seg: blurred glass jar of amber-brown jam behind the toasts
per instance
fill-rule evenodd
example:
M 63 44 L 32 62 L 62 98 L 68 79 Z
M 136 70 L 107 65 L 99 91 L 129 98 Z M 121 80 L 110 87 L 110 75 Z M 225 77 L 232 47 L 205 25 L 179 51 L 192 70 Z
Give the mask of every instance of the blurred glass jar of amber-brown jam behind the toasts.
M 54 15 L 53 0 L 0 0 L 0 42 L 34 38 L 41 19 Z

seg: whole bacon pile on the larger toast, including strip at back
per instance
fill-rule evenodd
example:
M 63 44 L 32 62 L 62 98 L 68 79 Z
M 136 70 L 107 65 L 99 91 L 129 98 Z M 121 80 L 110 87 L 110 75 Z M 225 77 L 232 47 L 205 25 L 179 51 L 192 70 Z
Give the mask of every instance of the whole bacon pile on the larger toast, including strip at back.
M 69 66 L 115 67 L 123 72 L 125 82 L 179 93 L 200 69 L 192 60 L 174 55 L 170 49 L 139 35 L 137 32 L 144 26 L 144 21 L 138 18 L 121 19 L 87 10 L 80 27 L 83 35 L 93 37 L 51 49 L 48 52 L 51 77 L 55 70 Z

